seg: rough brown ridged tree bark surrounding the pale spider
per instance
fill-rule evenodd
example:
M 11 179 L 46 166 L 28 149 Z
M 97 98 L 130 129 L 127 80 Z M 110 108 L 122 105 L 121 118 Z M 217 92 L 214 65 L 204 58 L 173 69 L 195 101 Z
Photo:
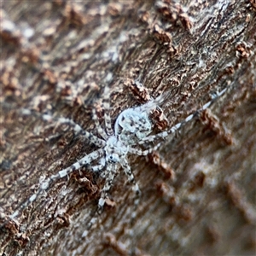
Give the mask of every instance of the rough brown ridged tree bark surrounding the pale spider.
M 255 255 L 255 1 L 1 4 L 1 255 L 128 255 L 131 240 L 135 255 Z M 94 132 L 109 73 L 113 122 L 168 92 L 172 126 L 228 90 L 154 154 L 129 156 L 142 191 L 133 239 L 121 169 L 85 237 L 104 183 L 86 168 L 9 219 L 44 178 L 96 150 L 40 114 Z

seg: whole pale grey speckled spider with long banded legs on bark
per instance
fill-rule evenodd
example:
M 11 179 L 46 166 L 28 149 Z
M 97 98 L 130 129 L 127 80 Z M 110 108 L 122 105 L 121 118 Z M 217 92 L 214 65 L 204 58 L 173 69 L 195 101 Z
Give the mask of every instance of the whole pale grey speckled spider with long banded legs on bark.
M 195 113 L 190 114 L 186 119 L 180 123 L 177 123 L 177 125 L 172 126 L 172 128 L 169 130 L 150 135 L 150 133 L 153 131 L 154 123 L 149 116 L 152 110 L 159 108 L 158 104 L 163 101 L 163 96 L 160 96 L 155 100 L 150 100 L 149 102 L 139 107 L 125 109 L 123 112 L 119 113 L 119 116 L 116 119 L 114 126 L 112 127 L 109 104 L 110 93 L 108 86 L 106 86 L 103 96 L 105 129 L 103 129 L 100 125 L 99 119 L 96 115 L 96 110 L 92 110 L 92 119 L 95 121 L 96 130 L 100 137 L 96 137 L 89 131 L 84 131 L 84 129 L 80 125 L 73 122 L 72 119 L 57 119 L 61 124 L 72 125 L 73 130 L 77 135 L 85 137 L 98 149 L 91 152 L 90 154 L 86 154 L 83 158 L 73 163 L 72 166 L 68 166 L 56 174 L 46 178 L 44 183 L 42 183 L 39 187 L 38 191 L 27 201 L 25 201 L 18 210 L 10 215 L 10 218 L 15 219 L 20 214 L 20 212 L 24 210 L 24 208 L 26 208 L 38 198 L 38 195 L 40 195 L 41 192 L 49 189 L 51 183 L 54 183 L 56 180 L 62 177 L 67 177 L 72 172 L 79 170 L 79 168 L 82 166 L 90 166 L 90 170 L 92 172 L 100 172 L 101 176 L 105 178 L 105 184 L 102 188 L 101 196 L 97 205 L 97 212 L 99 214 L 102 213 L 104 204 L 108 198 L 108 191 L 112 187 L 113 178 L 117 174 L 119 166 L 121 166 L 121 168 L 124 170 L 128 181 L 132 185 L 132 190 L 134 192 L 134 207 L 137 207 L 140 201 L 141 191 L 133 173 L 131 172 L 131 166 L 127 161 L 127 154 L 150 154 L 152 151 L 160 147 L 160 143 L 155 143 L 156 141 L 159 139 L 164 139 L 177 131 L 180 127 L 182 127 L 183 124 L 193 119 L 195 115 L 208 108 L 217 96 L 224 94 L 225 90 L 226 89 L 216 93 L 210 102 L 207 102 L 202 106 L 202 108 L 198 109 Z M 31 111 L 26 109 L 23 111 L 23 113 L 29 114 Z M 48 114 L 44 114 L 43 119 L 50 120 L 52 117 Z M 152 143 L 153 146 L 148 147 L 148 143 Z M 146 147 L 146 149 L 140 148 L 140 146 L 143 145 Z M 98 165 L 91 166 L 90 164 L 94 160 L 98 160 Z M 134 219 L 135 217 L 136 213 L 133 211 L 131 219 Z M 88 230 L 95 223 L 95 221 L 96 218 L 92 218 L 90 220 Z

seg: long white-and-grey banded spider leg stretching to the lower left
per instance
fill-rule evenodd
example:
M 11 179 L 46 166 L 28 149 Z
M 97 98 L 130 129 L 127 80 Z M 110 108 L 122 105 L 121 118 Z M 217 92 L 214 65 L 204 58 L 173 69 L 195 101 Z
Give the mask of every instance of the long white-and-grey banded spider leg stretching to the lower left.
M 16 210 L 12 215 L 10 215 L 10 218 L 12 219 L 16 218 L 20 214 L 20 212 L 22 212 L 27 206 L 32 204 L 32 202 L 38 198 L 38 195 L 40 195 L 43 191 L 46 191 L 47 189 L 49 189 L 49 185 L 55 182 L 55 180 L 58 180 L 61 177 L 66 177 L 70 173 L 78 170 L 81 166 L 89 165 L 93 160 L 96 160 L 101 155 L 103 155 L 103 150 L 98 149 L 94 152 L 91 152 L 90 154 L 85 155 L 83 158 L 78 160 L 72 166 L 68 166 L 67 168 L 62 169 L 57 174 L 53 174 L 52 176 L 48 177 L 44 181 L 44 183 L 41 184 L 38 191 L 34 195 L 32 195 L 28 200 L 22 203 L 21 206 L 19 207 L 19 210 Z

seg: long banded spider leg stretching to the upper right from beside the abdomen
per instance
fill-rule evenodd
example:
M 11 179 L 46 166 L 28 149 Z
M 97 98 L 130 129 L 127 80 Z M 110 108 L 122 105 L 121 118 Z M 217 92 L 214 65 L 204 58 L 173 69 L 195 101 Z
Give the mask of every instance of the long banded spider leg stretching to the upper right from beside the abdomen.
M 209 108 L 213 102 L 216 101 L 218 96 L 222 96 L 224 94 L 224 92 L 227 89 L 221 90 L 220 92 L 217 92 L 215 94 L 215 96 L 212 97 L 212 100 L 207 102 L 206 104 L 204 104 L 201 108 L 199 108 L 198 110 L 195 111 L 195 113 L 191 113 L 189 114 L 189 116 L 184 119 L 182 122 L 177 123 L 176 125 L 173 125 L 171 129 L 169 129 L 168 131 L 163 131 L 160 132 L 158 134 L 155 135 L 151 135 L 148 137 L 144 137 L 140 142 L 138 142 L 139 144 L 144 144 L 144 143 L 153 143 L 155 140 L 162 138 L 164 139 L 165 137 L 167 137 L 169 134 L 174 133 L 175 131 L 177 131 L 178 129 L 180 129 L 183 125 L 185 125 L 186 123 L 188 123 L 190 120 L 194 119 L 195 116 L 199 115 L 202 111 L 204 111 L 205 109 Z

